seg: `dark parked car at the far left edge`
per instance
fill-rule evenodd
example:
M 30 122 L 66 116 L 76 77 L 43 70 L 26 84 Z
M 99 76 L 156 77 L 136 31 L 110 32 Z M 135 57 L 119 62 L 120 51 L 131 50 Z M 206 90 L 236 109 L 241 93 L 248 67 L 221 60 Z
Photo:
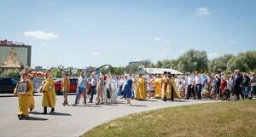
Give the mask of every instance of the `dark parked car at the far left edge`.
M 13 94 L 19 81 L 15 77 L 0 77 L 0 94 Z

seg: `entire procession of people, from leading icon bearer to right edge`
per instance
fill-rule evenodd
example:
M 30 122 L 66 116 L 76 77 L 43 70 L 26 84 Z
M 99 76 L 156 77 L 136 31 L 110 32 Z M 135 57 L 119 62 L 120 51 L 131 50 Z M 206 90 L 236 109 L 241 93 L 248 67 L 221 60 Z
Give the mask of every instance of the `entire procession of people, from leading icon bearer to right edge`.
M 33 86 L 28 77 L 26 70 L 21 71 L 20 82 L 26 82 L 26 94 L 19 94 L 17 87 L 15 95 L 19 96 L 20 119 L 28 117 L 28 111 L 34 108 Z M 19 83 L 18 83 L 19 84 Z M 17 86 L 18 86 L 17 84 Z M 67 94 L 70 88 L 70 82 L 66 72 L 63 72 L 61 79 L 61 91 L 63 93 L 63 106 L 67 106 Z M 96 103 L 96 105 L 116 103 L 118 98 L 125 99 L 127 106 L 131 106 L 131 100 L 147 100 L 154 98 L 156 100 L 174 100 L 192 99 L 202 100 L 209 98 L 213 100 L 242 100 L 252 99 L 256 94 L 256 77 L 255 73 L 247 74 L 238 70 L 233 74 L 201 74 L 186 73 L 184 75 L 173 75 L 165 71 L 163 74 L 150 75 L 96 75 L 94 72 L 90 77 L 85 76 L 81 71 L 78 78 L 77 92 L 73 106 L 79 105 L 79 100 L 83 96 L 83 106 L 87 103 Z M 41 85 L 40 92 L 43 93 L 42 106 L 47 114 L 47 108 L 50 107 L 53 113 L 55 111 L 55 83 L 51 75 L 51 70 L 47 70 L 44 82 Z M 96 96 L 96 102 L 93 102 Z M 87 102 L 87 99 L 89 101 Z M 69 100 L 70 101 L 70 100 Z

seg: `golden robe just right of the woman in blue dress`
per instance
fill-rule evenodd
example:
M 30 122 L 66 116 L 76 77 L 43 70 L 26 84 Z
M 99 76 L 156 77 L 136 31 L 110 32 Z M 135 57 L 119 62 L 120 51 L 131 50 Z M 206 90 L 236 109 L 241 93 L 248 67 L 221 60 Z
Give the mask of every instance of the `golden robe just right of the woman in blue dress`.
M 138 78 L 137 79 L 137 90 L 136 90 L 136 96 L 135 99 L 137 100 L 146 100 L 146 84 L 145 84 L 145 79 L 142 78 Z

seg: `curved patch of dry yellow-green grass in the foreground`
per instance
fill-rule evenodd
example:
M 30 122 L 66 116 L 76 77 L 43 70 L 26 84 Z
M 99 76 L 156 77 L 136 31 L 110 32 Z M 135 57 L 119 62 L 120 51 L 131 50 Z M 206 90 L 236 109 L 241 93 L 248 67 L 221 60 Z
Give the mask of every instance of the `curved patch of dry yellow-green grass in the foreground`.
M 177 106 L 131 114 L 84 137 L 256 136 L 256 100 Z

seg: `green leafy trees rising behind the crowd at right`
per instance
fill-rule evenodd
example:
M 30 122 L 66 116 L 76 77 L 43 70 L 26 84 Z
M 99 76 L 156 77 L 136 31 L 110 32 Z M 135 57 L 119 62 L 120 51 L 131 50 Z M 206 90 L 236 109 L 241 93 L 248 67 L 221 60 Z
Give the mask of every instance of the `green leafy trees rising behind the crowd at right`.
M 241 52 L 237 55 L 224 54 L 212 60 L 208 60 L 207 52 L 189 49 L 181 54 L 177 60 L 158 60 L 152 63 L 151 67 L 172 68 L 184 72 L 232 72 L 256 71 L 256 51 Z

